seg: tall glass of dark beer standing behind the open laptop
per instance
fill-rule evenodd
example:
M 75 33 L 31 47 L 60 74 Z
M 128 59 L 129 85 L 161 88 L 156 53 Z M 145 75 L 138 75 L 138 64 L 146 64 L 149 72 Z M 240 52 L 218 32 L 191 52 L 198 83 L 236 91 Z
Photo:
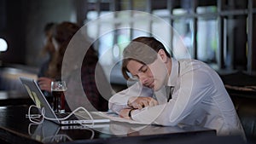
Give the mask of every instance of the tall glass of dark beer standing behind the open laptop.
M 53 95 L 53 110 L 55 113 L 65 112 L 65 95 L 67 90 L 65 81 L 51 82 L 51 93 Z

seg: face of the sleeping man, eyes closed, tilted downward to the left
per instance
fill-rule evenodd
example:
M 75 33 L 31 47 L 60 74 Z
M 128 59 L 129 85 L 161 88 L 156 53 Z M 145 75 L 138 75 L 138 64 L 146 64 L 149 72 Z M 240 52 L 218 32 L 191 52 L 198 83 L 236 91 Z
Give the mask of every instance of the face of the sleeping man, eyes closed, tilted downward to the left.
M 167 82 L 168 71 L 166 64 L 160 56 L 149 65 L 144 65 L 136 60 L 130 60 L 127 69 L 131 72 L 133 78 L 137 78 L 144 86 L 159 90 Z

